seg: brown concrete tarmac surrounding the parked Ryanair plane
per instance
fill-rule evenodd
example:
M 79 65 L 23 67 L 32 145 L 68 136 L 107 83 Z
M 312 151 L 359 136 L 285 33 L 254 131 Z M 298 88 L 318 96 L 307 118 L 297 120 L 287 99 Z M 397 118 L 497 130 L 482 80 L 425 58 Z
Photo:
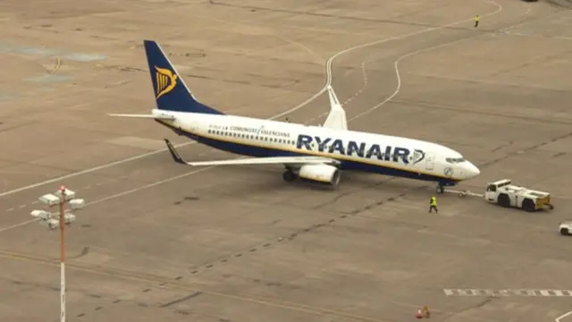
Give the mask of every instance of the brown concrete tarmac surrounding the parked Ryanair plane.
M 88 202 L 66 231 L 71 321 L 397 322 L 426 304 L 435 321 L 538 322 L 571 311 L 569 297 L 526 295 L 572 290 L 572 243 L 557 233 L 572 206 L 572 16 L 557 4 L 4 1 L 0 320 L 58 320 L 59 233 L 29 212 L 62 184 Z M 163 138 L 186 140 L 106 116 L 155 106 L 145 38 L 203 103 L 298 123 L 324 122 L 327 97 L 315 94 L 337 55 L 332 86 L 351 129 L 440 142 L 481 168 L 458 189 L 510 178 L 550 191 L 556 208 L 445 194 L 428 214 L 431 182 L 344 173 L 327 191 L 282 182 L 278 166 L 175 164 Z

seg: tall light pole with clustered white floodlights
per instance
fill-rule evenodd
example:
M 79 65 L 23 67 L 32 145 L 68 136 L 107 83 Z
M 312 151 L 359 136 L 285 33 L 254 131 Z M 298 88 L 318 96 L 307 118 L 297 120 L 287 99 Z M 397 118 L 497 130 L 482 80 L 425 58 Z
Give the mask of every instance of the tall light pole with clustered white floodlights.
M 85 206 L 83 199 L 75 199 L 75 192 L 65 189 L 64 186 L 55 193 L 48 193 L 39 198 L 40 201 L 45 203 L 48 207 L 60 206 L 59 213 L 47 212 L 44 210 L 33 210 L 30 215 L 35 216 L 41 220 L 41 224 L 47 225 L 50 230 L 60 228 L 60 321 L 65 322 L 65 225 L 71 225 L 75 221 L 75 215 L 71 213 L 66 214 L 65 204 L 69 204 L 71 209 L 76 210 Z M 55 219 L 54 217 L 58 217 Z

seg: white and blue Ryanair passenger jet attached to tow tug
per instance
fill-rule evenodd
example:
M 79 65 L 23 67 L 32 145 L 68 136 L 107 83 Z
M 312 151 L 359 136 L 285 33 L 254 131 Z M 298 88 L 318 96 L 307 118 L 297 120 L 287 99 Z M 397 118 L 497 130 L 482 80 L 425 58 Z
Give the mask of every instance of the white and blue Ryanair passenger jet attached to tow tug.
M 284 165 L 282 178 L 337 187 L 341 170 L 364 171 L 437 182 L 437 192 L 480 174 L 457 151 L 442 145 L 388 135 L 349 131 L 346 113 L 332 87 L 331 111 L 323 126 L 268 121 L 223 114 L 193 97 L 163 50 L 145 40 L 157 108 L 152 114 L 109 114 L 151 118 L 192 140 L 250 158 L 186 162 L 165 139 L 174 160 L 183 165 Z

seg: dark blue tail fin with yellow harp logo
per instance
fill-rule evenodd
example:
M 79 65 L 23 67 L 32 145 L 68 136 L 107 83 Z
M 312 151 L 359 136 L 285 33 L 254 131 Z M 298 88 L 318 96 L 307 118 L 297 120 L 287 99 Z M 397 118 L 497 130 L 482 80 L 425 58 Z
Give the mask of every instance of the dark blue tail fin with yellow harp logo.
M 199 103 L 193 97 L 185 81 L 181 79 L 181 74 L 169 62 L 159 44 L 152 40 L 144 40 L 143 43 L 158 109 L 174 112 L 223 114 L 214 108 Z

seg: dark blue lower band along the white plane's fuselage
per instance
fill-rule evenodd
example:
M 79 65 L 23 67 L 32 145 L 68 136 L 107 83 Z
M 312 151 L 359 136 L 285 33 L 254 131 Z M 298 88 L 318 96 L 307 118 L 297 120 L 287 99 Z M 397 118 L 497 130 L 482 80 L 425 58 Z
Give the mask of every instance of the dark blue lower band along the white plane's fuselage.
M 249 157 L 301 157 L 301 156 L 313 156 L 310 154 L 299 153 L 299 152 L 292 152 L 292 151 L 285 151 L 277 148 L 262 148 L 262 147 L 255 147 L 248 144 L 241 144 L 241 143 L 234 143 L 228 142 L 223 140 L 215 140 L 211 138 L 206 138 L 199 136 L 197 134 L 189 133 L 188 131 L 179 130 L 178 128 L 172 126 L 171 124 L 164 123 L 161 120 L 156 120 L 156 122 L 161 123 L 162 125 L 170 128 L 172 131 L 177 133 L 178 135 L 186 136 L 191 140 L 196 140 L 199 143 L 205 144 L 211 148 L 218 148 L 223 151 L 235 153 L 242 156 L 249 156 Z M 335 158 L 335 157 L 332 157 Z M 409 179 L 416 179 L 416 180 L 423 180 L 423 181 L 430 181 L 430 182 L 442 182 L 442 184 L 447 186 L 454 186 L 458 182 L 450 179 L 446 179 L 443 177 L 439 177 L 436 175 L 430 174 L 417 174 L 408 172 L 405 170 L 400 169 L 393 169 L 390 167 L 385 167 L 381 165 L 370 165 L 363 162 L 358 161 L 348 161 L 348 160 L 340 160 L 341 161 L 341 169 L 342 170 L 353 170 L 353 171 L 361 171 L 361 172 L 368 172 L 374 174 L 384 174 L 389 176 L 398 176 L 402 178 L 409 178 Z

